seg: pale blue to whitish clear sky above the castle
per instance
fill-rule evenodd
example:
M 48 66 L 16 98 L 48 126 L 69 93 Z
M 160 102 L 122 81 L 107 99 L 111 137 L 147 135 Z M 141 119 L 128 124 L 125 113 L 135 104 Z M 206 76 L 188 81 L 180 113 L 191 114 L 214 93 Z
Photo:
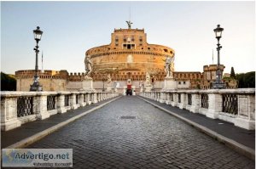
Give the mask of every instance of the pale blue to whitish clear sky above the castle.
M 131 11 L 131 12 L 130 12 Z M 217 64 L 213 29 L 224 28 L 220 64 L 225 73 L 255 70 L 255 2 L 3 2 L 1 1 L 1 71 L 35 69 L 32 31 L 39 42 L 39 69 L 84 72 L 86 50 L 110 43 L 114 28 L 143 29 L 148 43 L 175 50 L 176 71 L 203 71 Z

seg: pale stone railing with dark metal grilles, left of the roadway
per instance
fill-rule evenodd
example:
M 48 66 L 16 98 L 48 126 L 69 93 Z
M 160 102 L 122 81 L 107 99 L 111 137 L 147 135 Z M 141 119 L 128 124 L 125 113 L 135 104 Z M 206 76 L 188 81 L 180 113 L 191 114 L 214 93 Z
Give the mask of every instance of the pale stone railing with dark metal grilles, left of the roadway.
M 96 92 L 2 92 L 1 130 L 20 127 L 87 104 L 117 97 L 119 93 Z

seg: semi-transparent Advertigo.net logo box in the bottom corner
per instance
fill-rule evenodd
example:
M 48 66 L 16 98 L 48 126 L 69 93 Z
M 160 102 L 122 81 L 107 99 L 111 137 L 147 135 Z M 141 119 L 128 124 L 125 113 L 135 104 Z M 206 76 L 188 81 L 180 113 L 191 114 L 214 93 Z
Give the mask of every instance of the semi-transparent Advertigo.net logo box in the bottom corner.
M 2 149 L 4 167 L 72 167 L 73 149 Z

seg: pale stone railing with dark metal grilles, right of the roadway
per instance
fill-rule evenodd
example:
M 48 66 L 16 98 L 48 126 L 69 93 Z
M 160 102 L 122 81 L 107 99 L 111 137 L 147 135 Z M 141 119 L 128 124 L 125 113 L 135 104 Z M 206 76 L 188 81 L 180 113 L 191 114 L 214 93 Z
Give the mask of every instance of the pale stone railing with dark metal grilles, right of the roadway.
M 141 96 L 255 130 L 255 88 L 170 90 Z

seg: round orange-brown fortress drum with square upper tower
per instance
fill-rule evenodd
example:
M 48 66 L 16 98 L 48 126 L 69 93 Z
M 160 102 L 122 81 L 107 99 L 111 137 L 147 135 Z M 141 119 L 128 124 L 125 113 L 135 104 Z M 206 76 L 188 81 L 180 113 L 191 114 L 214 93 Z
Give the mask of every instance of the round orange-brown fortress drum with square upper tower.
M 113 81 L 144 81 L 148 72 L 156 81 L 163 81 L 166 56 L 174 50 L 162 45 L 148 44 L 147 34 L 139 29 L 115 29 L 111 43 L 86 51 L 93 64 L 92 78 L 103 81 L 108 74 Z

